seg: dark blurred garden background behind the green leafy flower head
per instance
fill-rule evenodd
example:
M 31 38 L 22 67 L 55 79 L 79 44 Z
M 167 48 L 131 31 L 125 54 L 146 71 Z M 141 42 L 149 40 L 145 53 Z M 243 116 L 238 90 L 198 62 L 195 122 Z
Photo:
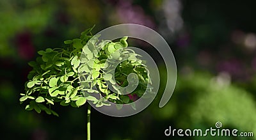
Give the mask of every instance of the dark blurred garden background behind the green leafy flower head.
M 94 24 L 97 33 L 122 23 L 142 24 L 164 37 L 177 61 L 177 86 L 163 108 L 159 94 L 147 109 L 127 118 L 92 110 L 92 139 L 256 139 L 164 136 L 169 126 L 204 130 L 217 121 L 222 128 L 256 135 L 255 5 L 249 0 L 1 0 L 1 139 L 86 139 L 86 105 L 57 106 L 56 117 L 19 104 L 28 62 L 37 51 L 61 47 Z M 161 93 L 166 69 L 157 61 Z

